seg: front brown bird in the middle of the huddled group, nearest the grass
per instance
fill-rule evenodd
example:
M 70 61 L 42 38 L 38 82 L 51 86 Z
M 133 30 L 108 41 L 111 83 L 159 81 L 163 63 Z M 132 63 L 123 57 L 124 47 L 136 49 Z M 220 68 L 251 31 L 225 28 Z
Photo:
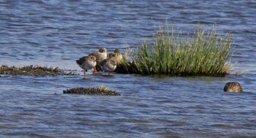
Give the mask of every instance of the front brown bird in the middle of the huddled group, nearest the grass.
M 104 59 L 104 61 L 102 61 L 100 63 L 100 68 L 104 71 L 104 72 L 108 72 L 108 75 L 110 74 L 110 72 L 113 72 L 116 69 L 116 61 L 115 59 Z

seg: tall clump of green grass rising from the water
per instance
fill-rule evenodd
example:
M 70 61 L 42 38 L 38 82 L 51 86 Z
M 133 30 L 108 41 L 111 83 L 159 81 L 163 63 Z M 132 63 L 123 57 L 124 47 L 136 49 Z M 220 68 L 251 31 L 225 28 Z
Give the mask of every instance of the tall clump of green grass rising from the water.
M 127 73 L 167 74 L 167 75 L 206 75 L 224 76 L 230 73 L 230 59 L 234 44 L 230 33 L 221 36 L 216 26 L 211 30 L 195 30 L 192 36 L 182 37 L 168 24 L 159 27 L 152 36 L 152 41 L 144 40 L 131 54 L 131 61 L 123 59 L 120 66 Z

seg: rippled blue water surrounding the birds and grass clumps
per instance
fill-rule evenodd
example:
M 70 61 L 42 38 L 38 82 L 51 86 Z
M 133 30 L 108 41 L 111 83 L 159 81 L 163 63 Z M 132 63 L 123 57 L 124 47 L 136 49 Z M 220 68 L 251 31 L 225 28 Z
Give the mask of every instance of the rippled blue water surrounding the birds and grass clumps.
M 241 76 L 93 75 L 0 77 L 0 137 L 253 137 L 256 135 L 255 1 L 0 2 L 0 65 L 59 66 L 150 38 L 154 26 L 192 32 L 200 21 L 231 31 Z M 101 73 L 100 73 L 101 74 Z M 243 93 L 225 93 L 237 81 Z M 104 84 L 122 96 L 63 95 Z

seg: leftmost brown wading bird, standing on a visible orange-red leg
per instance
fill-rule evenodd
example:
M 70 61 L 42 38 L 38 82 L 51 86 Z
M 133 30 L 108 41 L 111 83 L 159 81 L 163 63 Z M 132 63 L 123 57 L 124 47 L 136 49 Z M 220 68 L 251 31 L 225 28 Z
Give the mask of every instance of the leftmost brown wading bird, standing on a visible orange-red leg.
M 84 77 L 86 77 L 85 72 L 92 68 L 95 68 L 97 64 L 97 58 L 95 56 L 84 56 L 81 57 L 79 60 L 76 60 L 77 65 L 79 65 L 84 70 Z

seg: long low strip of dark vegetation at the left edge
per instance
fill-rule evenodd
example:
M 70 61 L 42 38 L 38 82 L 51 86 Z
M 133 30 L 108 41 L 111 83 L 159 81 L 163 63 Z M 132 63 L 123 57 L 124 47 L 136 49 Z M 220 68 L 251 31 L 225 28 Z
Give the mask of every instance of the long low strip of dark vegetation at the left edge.
M 28 75 L 28 76 L 56 76 L 56 75 L 77 75 L 76 72 L 65 72 L 60 70 L 58 67 L 48 66 L 0 66 L 0 74 L 4 75 Z

